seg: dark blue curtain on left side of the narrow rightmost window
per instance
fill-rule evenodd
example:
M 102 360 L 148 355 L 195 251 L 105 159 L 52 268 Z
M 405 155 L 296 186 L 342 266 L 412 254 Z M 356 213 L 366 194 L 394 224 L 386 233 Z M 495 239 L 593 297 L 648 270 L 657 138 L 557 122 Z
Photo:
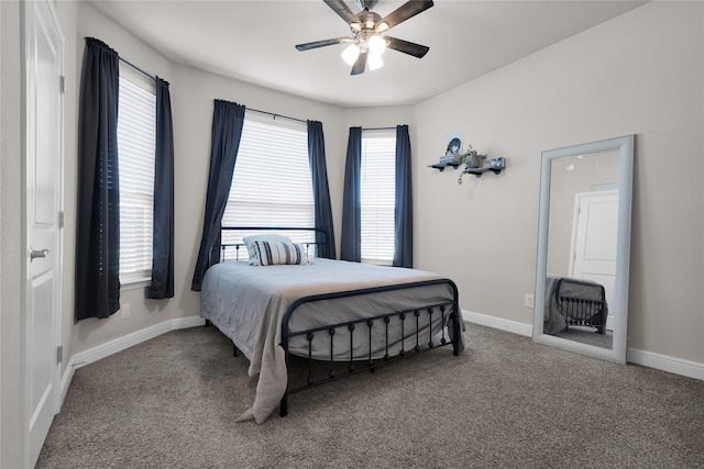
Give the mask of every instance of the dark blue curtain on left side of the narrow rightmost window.
M 362 127 L 350 127 L 348 156 L 344 166 L 342 196 L 342 237 L 340 259 L 362 260 L 360 177 L 362 172 Z

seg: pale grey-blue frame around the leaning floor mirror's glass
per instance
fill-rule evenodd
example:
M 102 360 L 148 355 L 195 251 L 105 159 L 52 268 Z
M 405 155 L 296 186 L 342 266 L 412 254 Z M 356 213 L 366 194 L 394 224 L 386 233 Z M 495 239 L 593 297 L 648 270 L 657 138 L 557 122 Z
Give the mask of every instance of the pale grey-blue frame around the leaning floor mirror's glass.
M 630 219 L 632 200 L 632 167 L 635 135 L 608 138 L 582 145 L 550 149 L 542 153 L 540 172 L 540 208 L 538 215 L 538 257 L 536 260 L 536 292 L 532 338 L 535 342 L 552 345 L 617 364 L 626 362 L 628 327 L 628 281 L 630 273 Z M 548 227 L 550 213 L 551 163 L 554 159 L 569 158 L 591 153 L 618 150 L 618 224 L 616 241 L 616 281 L 614 303 L 609 312 L 614 313 L 614 334 L 612 349 L 601 348 L 565 338 L 543 334 L 542 325 L 546 306 L 546 278 L 548 268 Z

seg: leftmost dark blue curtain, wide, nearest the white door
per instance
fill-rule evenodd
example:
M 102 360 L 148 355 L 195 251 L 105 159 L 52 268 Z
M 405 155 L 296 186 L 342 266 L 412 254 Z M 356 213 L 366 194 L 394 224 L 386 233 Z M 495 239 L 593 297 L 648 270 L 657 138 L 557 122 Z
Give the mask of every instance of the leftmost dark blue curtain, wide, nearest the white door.
M 75 322 L 120 309 L 119 56 L 86 37 L 78 103 Z

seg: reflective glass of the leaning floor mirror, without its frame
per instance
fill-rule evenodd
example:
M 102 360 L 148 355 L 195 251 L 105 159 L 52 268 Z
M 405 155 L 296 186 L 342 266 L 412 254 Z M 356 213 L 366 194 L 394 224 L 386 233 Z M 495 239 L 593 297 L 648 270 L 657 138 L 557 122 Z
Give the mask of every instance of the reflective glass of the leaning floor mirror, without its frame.
M 543 333 L 612 349 L 613 317 L 607 319 L 616 279 L 618 152 L 550 164 Z

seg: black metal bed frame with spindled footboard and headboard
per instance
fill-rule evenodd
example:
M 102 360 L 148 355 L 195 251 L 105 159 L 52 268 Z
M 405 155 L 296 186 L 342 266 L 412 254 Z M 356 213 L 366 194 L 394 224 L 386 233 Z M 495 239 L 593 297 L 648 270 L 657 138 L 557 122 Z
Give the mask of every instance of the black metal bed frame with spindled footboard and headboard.
M 316 233 L 321 233 L 324 236 L 324 241 L 322 242 L 310 242 L 304 243 L 308 248 L 308 245 L 322 245 L 327 243 L 328 233 L 324 230 L 320 228 L 301 228 L 301 227 L 222 227 L 222 230 L 228 231 L 315 231 Z M 224 249 L 227 247 L 234 247 L 239 253 L 240 246 L 242 244 L 222 244 L 222 257 L 224 259 Z M 239 254 L 237 255 L 239 256 Z M 235 257 L 237 257 L 235 256 Z M 377 314 L 374 316 L 358 319 L 354 321 L 346 321 L 341 323 L 329 324 L 324 326 L 314 327 L 310 330 L 304 331 L 292 331 L 289 323 L 292 317 L 296 314 L 296 311 L 299 306 L 306 303 L 312 303 L 317 301 L 328 301 L 334 300 L 345 297 L 353 295 L 362 295 L 362 294 L 373 294 L 373 293 L 384 293 L 389 291 L 397 291 L 404 289 L 413 289 L 418 287 L 429 287 L 437 284 L 447 284 L 451 292 L 452 298 L 448 301 L 441 303 L 426 304 L 422 308 L 410 309 L 410 310 L 398 310 L 398 311 L 389 311 L 387 313 Z M 427 331 L 425 331 L 425 326 L 420 326 L 421 315 L 428 316 Z M 433 315 L 439 314 L 441 319 L 441 334 L 440 338 L 433 337 L 432 333 L 432 321 Z M 438 316 L 435 316 L 438 317 Z M 396 322 L 397 325 L 400 326 L 400 351 L 397 355 L 392 356 L 389 354 L 389 327 L 393 327 L 393 322 Z M 452 323 L 452 331 L 447 331 L 446 333 L 446 324 Z M 408 326 L 408 330 L 406 327 Z M 385 354 L 383 358 L 374 359 L 373 350 L 372 350 L 372 330 L 373 327 L 383 327 L 386 342 L 385 342 Z M 366 333 L 366 339 L 369 340 L 367 353 L 365 356 L 355 356 L 354 355 L 354 346 L 355 344 L 355 331 L 361 330 L 362 333 Z M 408 334 L 407 334 L 408 333 Z M 443 347 L 448 345 L 452 345 L 452 354 L 458 356 L 461 351 L 461 334 L 462 334 L 462 323 L 460 320 L 460 304 L 459 304 L 459 292 L 457 284 L 450 279 L 433 279 L 433 280 L 425 280 L 417 281 L 410 283 L 400 283 L 400 284 L 391 284 L 383 287 L 372 287 L 364 289 L 355 289 L 355 290 L 346 290 L 333 293 L 324 293 L 324 294 L 315 294 L 309 297 L 304 297 L 296 300 L 286 311 L 284 317 L 282 319 L 282 347 L 286 354 L 286 369 L 289 370 L 289 362 L 294 354 L 289 351 L 289 342 L 293 337 L 305 336 L 308 342 L 308 356 L 299 357 L 304 360 L 307 360 L 307 377 L 305 379 L 305 383 L 302 384 L 292 384 L 292 376 L 288 372 L 288 383 L 286 388 L 286 392 L 280 400 L 279 405 L 279 415 L 286 416 L 288 414 L 288 397 L 310 389 L 318 387 L 320 384 L 337 381 L 341 378 L 352 376 L 362 371 L 374 372 L 376 368 L 382 367 L 384 365 L 388 365 L 395 361 L 398 361 L 404 358 L 408 358 L 411 356 L 416 356 L 418 354 L 432 350 L 438 347 Z M 436 330 L 437 335 L 437 330 Z M 405 349 L 406 337 L 410 336 L 411 338 L 415 336 L 415 345 L 411 349 Z M 312 357 L 312 340 L 316 337 L 329 337 L 330 343 L 330 358 L 328 360 L 319 360 Z M 337 340 L 346 340 L 349 343 L 350 358 L 346 361 L 340 361 L 334 359 L 334 344 Z M 237 348 L 235 348 L 237 355 Z M 322 375 L 314 371 L 314 368 L 321 368 L 322 365 Z

